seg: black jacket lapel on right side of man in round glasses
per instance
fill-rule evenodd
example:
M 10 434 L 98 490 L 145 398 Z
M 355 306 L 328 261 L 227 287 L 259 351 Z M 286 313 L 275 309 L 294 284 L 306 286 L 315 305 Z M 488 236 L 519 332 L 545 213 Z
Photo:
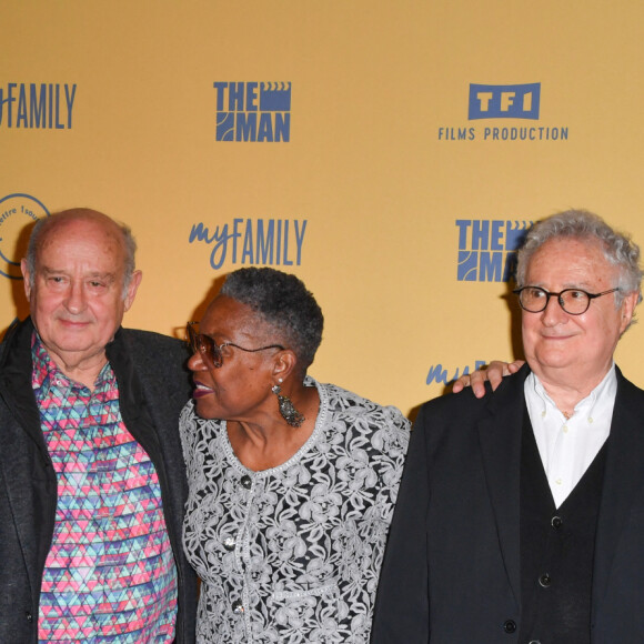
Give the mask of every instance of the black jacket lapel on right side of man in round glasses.
M 611 575 L 618 541 L 633 501 L 644 485 L 644 392 L 617 369 L 617 395 L 604 470 L 604 484 L 593 571 L 593 620 L 600 608 Z

